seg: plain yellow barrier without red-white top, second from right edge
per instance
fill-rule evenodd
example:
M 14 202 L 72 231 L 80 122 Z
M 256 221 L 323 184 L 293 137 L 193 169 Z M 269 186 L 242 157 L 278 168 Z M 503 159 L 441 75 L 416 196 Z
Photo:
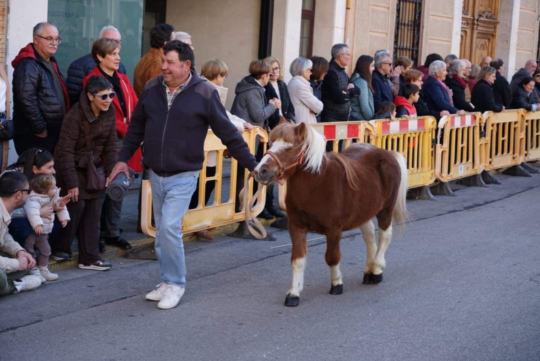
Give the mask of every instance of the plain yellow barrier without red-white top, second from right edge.
M 485 112 L 485 170 L 519 165 L 525 158 L 525 125 L 523 109 Z

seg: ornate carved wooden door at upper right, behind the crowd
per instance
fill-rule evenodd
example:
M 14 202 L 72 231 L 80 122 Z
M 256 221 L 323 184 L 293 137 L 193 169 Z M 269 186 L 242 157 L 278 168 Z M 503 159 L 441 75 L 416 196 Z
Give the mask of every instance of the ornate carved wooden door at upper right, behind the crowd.
M 495 57 L 500 0 L 463 0 L 460 58 L 479 64 Z

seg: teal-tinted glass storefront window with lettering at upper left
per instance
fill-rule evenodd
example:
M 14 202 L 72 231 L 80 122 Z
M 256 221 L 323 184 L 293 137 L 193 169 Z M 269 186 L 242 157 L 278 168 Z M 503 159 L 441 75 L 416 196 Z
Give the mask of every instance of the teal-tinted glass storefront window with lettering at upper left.
M 47 19 L 62 38 L 55 58 L 64 76 L 73 60 L 90 53 L 103 26 L 112 25 L 122 35 L 120 61 L 133 80 L 141 54 L 144 0 L 49 0 L 48 4 Z

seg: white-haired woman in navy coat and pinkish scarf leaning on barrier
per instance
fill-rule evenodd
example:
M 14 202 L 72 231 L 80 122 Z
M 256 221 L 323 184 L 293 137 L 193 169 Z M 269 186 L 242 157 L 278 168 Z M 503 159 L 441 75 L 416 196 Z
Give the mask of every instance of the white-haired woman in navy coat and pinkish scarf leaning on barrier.
M 424 83 L 422 93 L 425 96 L 426 104 L 432 111 L 448 111 L 450 114 L 465 114 L 454 106 L 451 91 L 443 83 L 447 76 L 446 63 L 442 60 L 435 60 L 429 65 L 429 77 Z

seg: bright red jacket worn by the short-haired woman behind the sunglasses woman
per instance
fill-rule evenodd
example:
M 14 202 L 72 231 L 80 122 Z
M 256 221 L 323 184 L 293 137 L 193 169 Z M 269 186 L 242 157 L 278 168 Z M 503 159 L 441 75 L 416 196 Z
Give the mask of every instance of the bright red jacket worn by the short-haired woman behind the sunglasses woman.
M 117 71 L 114 72 L 114 74 L 118 77 L 118 79 L 120 79 L 120 86 L 122 87 L 122 93 L 124 95 L 124 102 L 127 112 L 124 118 L 122 106 L 120 106 L 120 100 L 118 99 L 118 97 L 114 97 L 112 99 L 112 105 L 114 106 L 114 114 L 116 115 L 116 133 L 118 134 L 118 139 L 123 139 L 127 133 L 127 127 L 130 124 L 131 115 L 133 114 L 133 110 L 137 105 L 138 99 L 127 76 Z M 102 72 L 97 66 L 83 79 L 83 88 L 86 87 L 88 79 L 93 76 L 103 77 Z M 141 166 L 140 162 L 141 156 L 142 154 L 139 148 L 137 149 L 137 152 L 133 154 L 133 156 L 127 162 L 127 166 L 129 166 L 135 172 L 142 172 L 143 167 Z

